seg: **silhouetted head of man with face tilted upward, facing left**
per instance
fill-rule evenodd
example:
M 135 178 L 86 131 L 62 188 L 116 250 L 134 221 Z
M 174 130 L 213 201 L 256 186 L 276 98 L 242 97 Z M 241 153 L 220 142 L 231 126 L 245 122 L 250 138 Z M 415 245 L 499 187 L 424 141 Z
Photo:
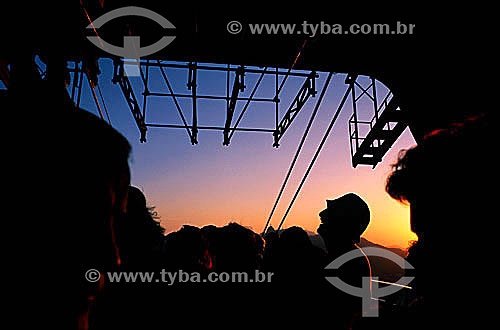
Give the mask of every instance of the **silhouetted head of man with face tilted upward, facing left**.
M 370 209 L 356 194 L 349 193 L 326 201 L 327 208 L 319 213 L 321 235 L 327 248 L 359 242 L 370 223 Z

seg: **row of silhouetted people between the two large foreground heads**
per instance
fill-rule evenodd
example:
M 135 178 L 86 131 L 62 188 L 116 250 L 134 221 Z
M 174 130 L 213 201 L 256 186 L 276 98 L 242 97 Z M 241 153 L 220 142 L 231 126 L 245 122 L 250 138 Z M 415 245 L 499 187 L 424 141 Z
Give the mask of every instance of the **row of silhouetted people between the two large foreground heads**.
M 369 224 L 368 205 L 356 194 L 327 201 L 327 208 L 320 213 L 318 232 L 326 250 L 313 245 L 309 234 L 297 226 L 279 232 L 271 227 L 261 235 L 234 222 L 222 227 L 184 225 L 164 235 L 138 188 L 128 187 L 126 199 L 123 212 L 115 219 L 115 240 L 111 242 L 118 254 L 114 260 L 119 261 L 109 269 L 154 272 L 157 276 L 161 270 L 182 271 L 199 277 L 195 281 L 178 278 L 176 283 L 163 279 L 104 283 L 102 292 L 96 292 L 91 299 L 94 311 L 88 322 L 96 327 L 113 328 L 146 315 L 150 322 L 160 317 L 161 324 L 161 315 L 166 311 L 183 315 L 191 325 L 198 325 L 198 318 L 205 322 L 220 313 L 231 315 L 221 315 L 226 320 L 221 327 L 229 326 L 229 319 L 234 317 L 247 318 L 251 311 L 286 313 L 296 315 L 297 320 L 301 315 L 323 311 L 329 322 L 341 327 L 348 327 L 355 316 L 361 317 L 358 297 L 337 292 L 323 273 L 329 262 L 356 248 Z M 366 261 L 359 261 L 350 262 L 336 275 L 360 287 L 361 277 L 369 275 L 369 268 Z M 256 271 L 263 278 L 255 278 Z M 208 282 L 208 275 L 214 272 L 247 277 L 239 282 Z M 157 310 L 153 316 L 152 310 Z M 197 318 L 189 319 L 193 314 Z M 276 321 L 273 318 L 268 321 Z M 290 322 L 291 326 L 290 320 L 288 317 L 288 321 L 280 323 Z

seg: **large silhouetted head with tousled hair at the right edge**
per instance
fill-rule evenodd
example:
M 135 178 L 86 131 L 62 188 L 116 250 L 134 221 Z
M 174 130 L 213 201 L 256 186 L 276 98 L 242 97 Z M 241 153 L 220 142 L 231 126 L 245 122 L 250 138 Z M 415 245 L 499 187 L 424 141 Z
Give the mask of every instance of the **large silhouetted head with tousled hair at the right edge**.
M 427 229 L 446 235 L 460 228 L 443 219 L 463 219 L 468 213 L 481 218 L 478 213 L 493 205 L 485 199 L 495 194 L 482 193 L 482 185 L 490 180 L 483 159 L 495 141 L 492 122 L 488 114 L 471 117 L 433 131 L 400 152 L 385 188 L 394 199 L 410 204 L 411 229 L 420 242 Z M 470 234 L 476 227 L 466 228 Z

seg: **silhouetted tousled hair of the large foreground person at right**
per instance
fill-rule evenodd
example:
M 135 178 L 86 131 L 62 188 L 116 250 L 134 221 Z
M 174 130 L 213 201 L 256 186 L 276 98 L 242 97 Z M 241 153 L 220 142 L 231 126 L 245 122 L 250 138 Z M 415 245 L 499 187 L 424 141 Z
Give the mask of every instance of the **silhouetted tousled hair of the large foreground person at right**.
M 480 164 L 475 156 L 481 156 L 481 148 L 487 150 L 491 142 L 489 124 L 488 115 L 481 114 L 435 130 L 420 145 L 402 150 L 387 178 L 386 192 L 402 203 L 411 203 L 426 189 L 442 189 L 446 194 L 449 181 L 463 174 L 457 169 L 472 170 Z M 430 186 L 433 182 L 436 187 Z

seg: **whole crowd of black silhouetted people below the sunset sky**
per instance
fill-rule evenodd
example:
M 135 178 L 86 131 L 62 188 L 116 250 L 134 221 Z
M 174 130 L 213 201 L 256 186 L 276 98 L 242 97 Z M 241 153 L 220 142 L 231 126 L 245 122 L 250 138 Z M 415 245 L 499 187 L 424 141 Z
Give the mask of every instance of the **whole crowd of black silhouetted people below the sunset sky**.
M 46 102 L 50 105 L 52 101 Z M 415 267 L 415 280 L 412 290 L 399 293 L 397 303 L 380 301 L 376 319 L 363 317 L 359 297 L 338 290 L 325 279 L 325 266 L 358 248 L 369 224 L 369 207 L 358 195 L 347 193 L 329 200 L 319 213 L 318 233 L 325 249 L 313 245 L 307 232 L 295 226 L 259 234 L 237 223 L 201 228 L 185 225 L 165 234 L 144 194 L 130 186 L 128 141 L 70 102 L 54 109 L 52 115 L 64 126 L 53 125 L 54 131 L 30 141 L 33 171 L 44 176 L 25 188 L 39 196 L 37 206 L 46 218 L 31 222 L 41 242 L 23 261 L 40 260 L 43 267 L 54 267 L 50 281 L 47 274 L 43 278 L 51 284 L 42 288 L 47 295 L 38 296 L 37 304 L 43 306 L 45 297 L 55 295 L 56 289 L 62 291 L 57 296 L 61 309 L 56 311 L 69 310 L 57 312 L 60 318 L 69 316 L 66 329 L 246 324 L 259 328 L 315 324 L 421 328 L 426 324 L 423 315 L 429 313 L 428 297 L 438 292 L 443 298 L 440 302 L 456 307 L 458 313 L 463 304 L 452 298 L 457 288 L 464 296 L 483 288 L 477 281 L 479 287 L 463 284 L 465 278 L 477 279 L 481 269 L 478 259 L 468 255 L 467 245 L 453 245 L 453 253 L 446 246 L 468 236 L 484 237 L 485 245 L 488 241 L 486 212 L 493 203 L 483 190 L 491 181 L 484 170 L 489 163 L 483 159 L 492 156 L 492 133 L 486 114 L 429 134 L 418 146 L 403 152 L 393 166 L 386 191 L 410 205 L 411 229 L 418 242 L 409 249 L 407 260 Z M 57 194 L 48 193 L 51 187 L 56 187 Z M 84 276 L 89 269 L 101 274 L 182 270 L 200 274 L 202 281 L 111 283 L 101 276 L 89 282 Z M 252 276 L 255 270 L 272 273 L 272 280 L 203 282 L 211 273 L 246 272 Z M 361 278 L 369 272 L 367 260 L 360 258 L 335 276 L 360 287 Z M 460 286 L 456 274 L 460 274 Z

